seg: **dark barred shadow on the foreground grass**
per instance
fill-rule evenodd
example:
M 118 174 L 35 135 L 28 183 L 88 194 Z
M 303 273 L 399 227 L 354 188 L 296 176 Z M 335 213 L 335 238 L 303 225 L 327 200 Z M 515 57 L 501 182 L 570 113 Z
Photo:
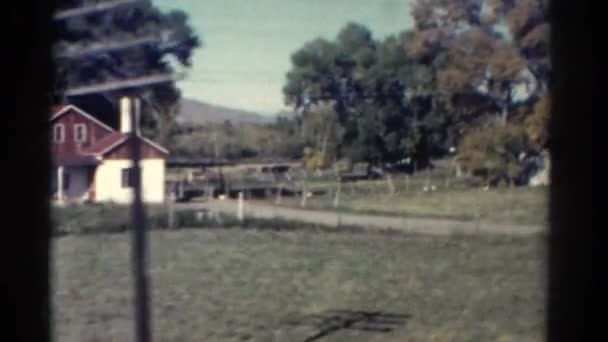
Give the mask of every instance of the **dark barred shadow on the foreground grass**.
M 311 326 L 315 332 L 302 342 L 312 342 L 341 330 L 386 334 L 405 325 L 411 317 L 409 314 L 382 311 L 328 310 L 319 314 L 291 317 L 285 323 L 291 326 Z

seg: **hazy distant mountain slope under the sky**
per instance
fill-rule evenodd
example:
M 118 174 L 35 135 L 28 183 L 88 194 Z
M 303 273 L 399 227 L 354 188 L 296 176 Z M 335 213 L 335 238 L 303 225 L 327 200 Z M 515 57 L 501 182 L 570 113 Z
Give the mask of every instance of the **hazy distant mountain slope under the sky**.
M 255 112 L 212 105 L 198 100 L 182 99 L 179 123 L 206 124 L 230 120 L 233 123 L 267 123 L 273 116 L 264 116 Z

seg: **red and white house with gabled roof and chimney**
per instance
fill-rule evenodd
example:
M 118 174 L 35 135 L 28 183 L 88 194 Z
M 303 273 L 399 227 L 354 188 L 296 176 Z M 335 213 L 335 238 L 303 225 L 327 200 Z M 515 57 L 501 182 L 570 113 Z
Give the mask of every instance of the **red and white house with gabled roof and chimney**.
M 55 200 L 66 202 L 116 202 L 133 197 L 133 169 L 129 153 L 129 115 L 120 118 L 116 131 L 73 106 L 55 107 L 51 115 Z M 165 160 L 169 152 L 144 138 L 141 142 L 142 199 L 165 200 Z

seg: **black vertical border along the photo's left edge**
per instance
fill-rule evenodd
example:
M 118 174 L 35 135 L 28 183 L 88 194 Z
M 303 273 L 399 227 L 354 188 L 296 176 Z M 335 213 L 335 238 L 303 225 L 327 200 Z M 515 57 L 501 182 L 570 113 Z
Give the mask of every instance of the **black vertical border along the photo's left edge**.
M 2 5 L 3 32 L 13 33 L 4 42 L 11 51 L 0 57 L 3 80 L 10 84 L 2 108 L 15 113 L 3 122 L 3 165 L 11 167 L 4 168 L 2 190 L 10 200 L 2 206 L 2 217 L 4 227 L 12 222 L 19 227 L 2 234 L 2 308 L 8 317 L 2 335 L 3 340 L 45 342 L 52 332 L 48 94 L 53 84 L 53 1 Z

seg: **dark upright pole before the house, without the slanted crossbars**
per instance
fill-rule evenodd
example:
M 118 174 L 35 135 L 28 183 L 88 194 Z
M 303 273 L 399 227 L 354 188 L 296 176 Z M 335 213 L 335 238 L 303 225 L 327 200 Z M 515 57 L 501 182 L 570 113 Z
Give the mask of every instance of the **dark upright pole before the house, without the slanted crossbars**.
M 142 201 L 141 180 L 141 139 L 139 138 L 139 115 L 141 102 L 138 98 L 123 98 L 128 102 L 123 110 L 129 110 L 131 118 L 130 147 L 133 170 L 133 202 L 131 204 L 132 234 L 133 234 L 133 275 L 135 278 L 135 341 L 151 341 L 150 308 L 148 296 L 148 255 L 146 240 L 145 211 Z

